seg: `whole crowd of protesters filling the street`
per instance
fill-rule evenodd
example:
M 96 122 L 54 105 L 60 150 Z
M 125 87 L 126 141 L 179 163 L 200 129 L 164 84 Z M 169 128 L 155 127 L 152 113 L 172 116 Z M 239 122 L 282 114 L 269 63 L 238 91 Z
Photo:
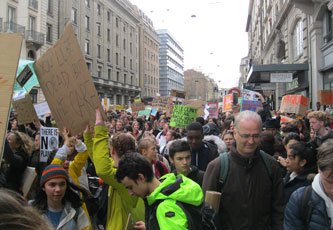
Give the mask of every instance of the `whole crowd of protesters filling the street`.
M 12 111 L 0 171 L 0 230 L 204 229 L 188 207 L 220 192 L 216 229 L 333 229 L 333 114 L 220 112 L 170 127 L 163 111 L 139 117 L 96 110 L 95 125 L 40 162 L 40 128 Z M 23 197 L 27 167 L 36 179 Z M 200 221 L 199 221 L 200 222 Z M 199 224 L 200 225 L 200 224 Z

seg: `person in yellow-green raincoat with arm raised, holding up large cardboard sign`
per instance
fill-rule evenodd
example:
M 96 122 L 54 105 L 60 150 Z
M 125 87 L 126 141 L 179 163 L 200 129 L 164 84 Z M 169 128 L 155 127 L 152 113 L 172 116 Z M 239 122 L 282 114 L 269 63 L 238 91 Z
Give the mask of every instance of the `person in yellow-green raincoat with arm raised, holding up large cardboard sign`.
M 112 137 L 109 151 L 108 129 L 99 110 L 96 110 L 94 131 L 94 135 L 85 132 L 84 140 L 97 175 L 109 185 L 106 230 L 123 230 L 129 213 L 135 221 L 144 220 L 143 200 L 131 196 L 115 178 L 119 158 L 127 151 L 135 151 L 135 138 L 130 134 L 117 133 Z

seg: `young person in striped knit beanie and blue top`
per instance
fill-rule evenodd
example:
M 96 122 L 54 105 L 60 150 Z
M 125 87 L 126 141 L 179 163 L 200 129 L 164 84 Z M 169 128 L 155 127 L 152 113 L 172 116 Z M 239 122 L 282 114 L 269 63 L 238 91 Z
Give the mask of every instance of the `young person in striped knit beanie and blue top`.
M 40 189 L 32 205 L 55 229 L 87 230 L 90 228 L 89 218 L 81 208 L 82 200 L 77 192 L 84 190 L 69 182 L 61 165 L 49 165 L 43 171 Z

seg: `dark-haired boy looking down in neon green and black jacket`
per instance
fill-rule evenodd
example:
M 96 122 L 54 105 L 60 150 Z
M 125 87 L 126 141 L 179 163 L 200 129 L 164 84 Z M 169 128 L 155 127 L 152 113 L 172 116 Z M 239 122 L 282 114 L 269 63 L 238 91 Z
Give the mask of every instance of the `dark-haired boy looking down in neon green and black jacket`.
M 139 153 L 121 158 L 116 178 L 130 195 L 144 198 L 145 223 L 136 222 L 135 229 L 188 229 L 186 214 L 176 202 L 194 206 L 203 202 L 203 192 L 197 183 L 173 173 L 156 179 L 149 162 Z

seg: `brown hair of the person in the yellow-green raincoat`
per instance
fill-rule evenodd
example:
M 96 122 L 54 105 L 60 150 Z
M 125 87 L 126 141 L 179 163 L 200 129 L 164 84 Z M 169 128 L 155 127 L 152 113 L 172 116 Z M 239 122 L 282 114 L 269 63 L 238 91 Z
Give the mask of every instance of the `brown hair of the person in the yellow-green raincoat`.
M 128 151 L 135 151 L 135 144 L 135 138 L 128 133 L 116 133 L 110 143 L 118 157 L 121 157 Z

